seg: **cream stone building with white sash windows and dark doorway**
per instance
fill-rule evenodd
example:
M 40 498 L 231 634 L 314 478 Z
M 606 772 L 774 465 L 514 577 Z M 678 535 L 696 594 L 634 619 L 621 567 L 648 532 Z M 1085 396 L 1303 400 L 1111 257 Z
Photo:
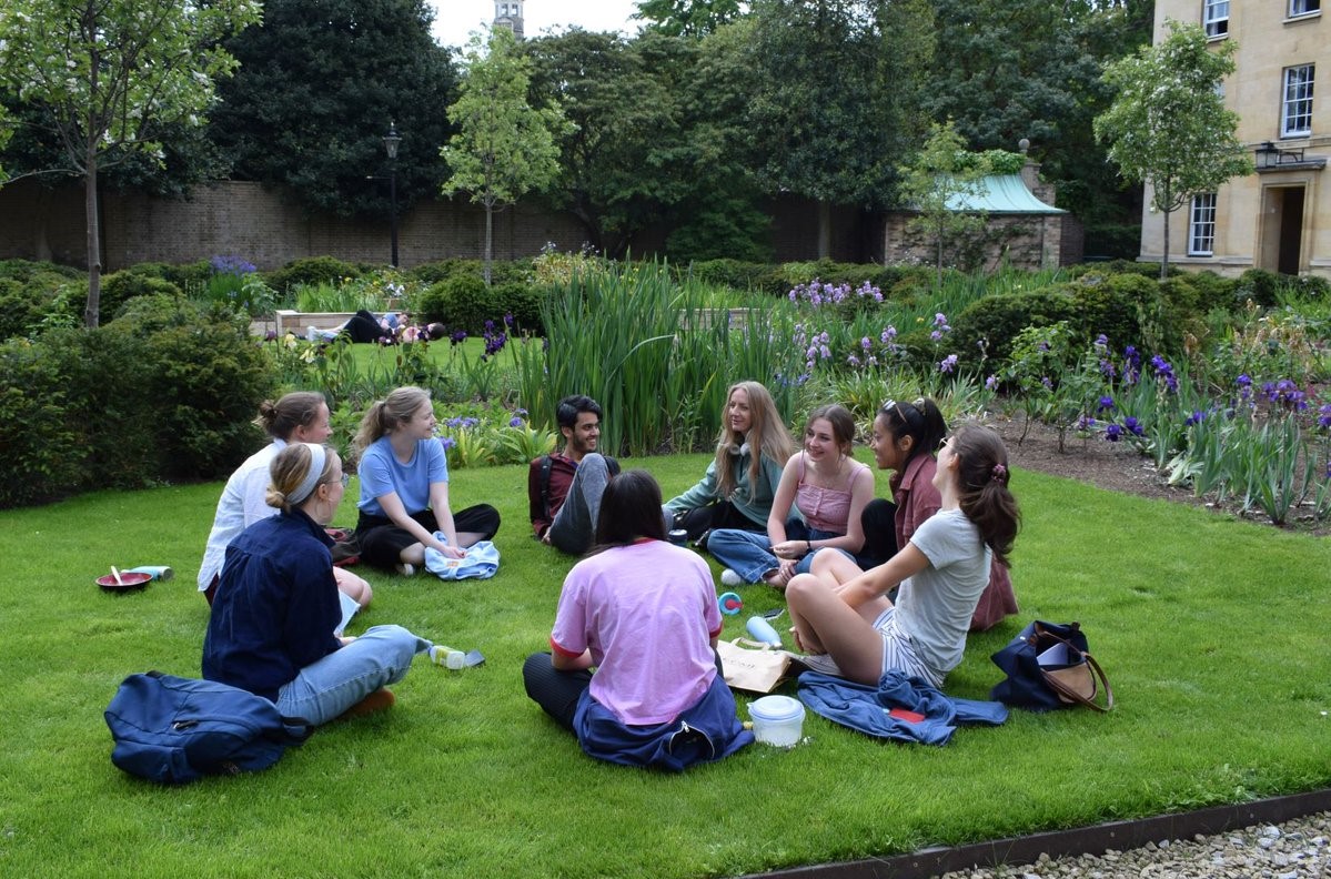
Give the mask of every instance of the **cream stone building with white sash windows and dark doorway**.
M 1331 277 L 1328 102 L 1314 100 L 1316 72 L 1331 70 L 1320 0 L 1157 0 L 1155 40 L 1167 20 L 1198 23 L 1215 41 L 1238 44 L 1225 102 L 1256 173 L 1195 195 L 1170 218 L 1170 265 L 1238 275 L 1247 269 Z M 1142 209 L 1139 259 L 1163 257 L 1165 217 Z

